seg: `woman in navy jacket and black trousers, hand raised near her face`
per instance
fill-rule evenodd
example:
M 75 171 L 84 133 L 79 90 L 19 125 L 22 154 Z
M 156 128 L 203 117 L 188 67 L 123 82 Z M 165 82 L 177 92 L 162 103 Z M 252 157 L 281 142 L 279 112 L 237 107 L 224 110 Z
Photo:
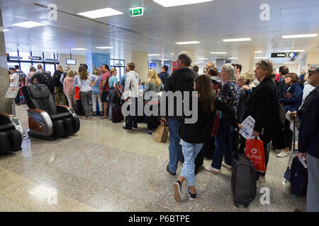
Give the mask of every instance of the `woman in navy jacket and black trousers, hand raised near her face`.
M 279 102 L 283 105 L 286 112 L 294 112 L 301 106 L 301 101 L 303 97 L 303 90 L 299 78 L 296 73 L 286 74 L 284 81 L 289 85 L 288 90 L 284 98 L 280 98 Z M 277 155 L 277 157 L 285 157 L 288 155 L 289 150 L 291 150 L 291 143 L 293 141 L 293 131 L 290 129 L 290 121 L 285 120 L 284 124 L 284 150 Z

